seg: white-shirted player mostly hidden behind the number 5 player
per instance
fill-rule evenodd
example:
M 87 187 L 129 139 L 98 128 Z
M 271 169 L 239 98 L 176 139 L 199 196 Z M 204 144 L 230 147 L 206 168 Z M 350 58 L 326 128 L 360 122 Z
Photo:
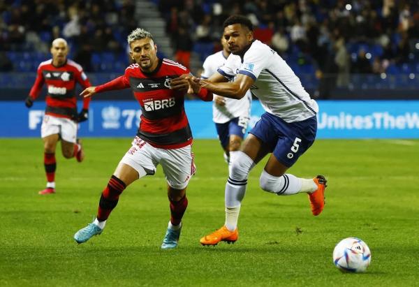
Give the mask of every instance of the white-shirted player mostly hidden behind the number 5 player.
M 210 78 L 217 69 L 224 65 L 231 52 L 228 49 L 226 39 L 221 38 L 223 50 L 212 54 L 205 59 L 203 74 L 201 78 Z M 232 55 L 235 61 L 240 63 L 240 57 Z M 235 159 L 244 134 L 247 131 L 247 124 L 250 119 L 251 92 L 248 90 L 243 98 L 236 100 L 214 95 L 212 104 L 212 120 L 215 123 L 216 133 L 219 136 L 221 147 L 224 149 L 224 159 L 230 165 Z

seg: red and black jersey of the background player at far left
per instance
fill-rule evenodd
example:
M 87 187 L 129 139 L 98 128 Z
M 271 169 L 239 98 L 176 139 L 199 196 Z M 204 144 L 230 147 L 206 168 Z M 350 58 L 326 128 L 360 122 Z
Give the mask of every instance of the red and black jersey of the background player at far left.
M 76 82 L 83 89 L 91 86 L 82 66 L 68 59 L 64 65 L 56 67 L 52 65 L 52 59 L 49 59 L 38 66 L 36 80 L 29 96 L 35 100 L 41 93 L 43 84 L 47 84 L 45 114 L 71 119 L 77 115 Z M 88 109 L 89 103 L 90 99 L 84 98 L 83 108 Z

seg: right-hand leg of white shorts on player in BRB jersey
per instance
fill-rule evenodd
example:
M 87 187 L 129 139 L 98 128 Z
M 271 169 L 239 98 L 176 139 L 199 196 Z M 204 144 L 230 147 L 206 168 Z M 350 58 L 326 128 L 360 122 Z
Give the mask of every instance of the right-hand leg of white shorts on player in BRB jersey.
M 193 162 L 192 146 L 181 147 L 179 149 L 166 149 L 161 158 L 161 167 L 168 185 L 172 189 L 185 189 L 189 179 L 196 172 Z

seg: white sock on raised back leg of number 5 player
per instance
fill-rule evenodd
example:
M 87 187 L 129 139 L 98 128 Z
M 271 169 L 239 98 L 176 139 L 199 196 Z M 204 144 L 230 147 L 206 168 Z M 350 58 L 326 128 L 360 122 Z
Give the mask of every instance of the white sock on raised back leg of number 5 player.
M 313 192 L 317 189 L 313 179 L 302 179 L 289 173 L 281 177 L 275 177 L 265 170 L 260 175 L 259 184 L 264 191 L 277 193 L 280 196 L 290 196 L 300 192 Z

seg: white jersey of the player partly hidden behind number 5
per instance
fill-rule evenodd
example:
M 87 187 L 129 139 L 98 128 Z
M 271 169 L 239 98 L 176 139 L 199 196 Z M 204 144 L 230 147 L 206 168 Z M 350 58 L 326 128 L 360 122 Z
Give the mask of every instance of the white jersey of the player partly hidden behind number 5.
M 240 64 L 240 57 L 233 56 L 228 58 L 230 61 L 236 61 L 237 64 Z M 226 62 L 226 58 L 223 55 L 223 51 L 216 52 L 207 57 L 204 61 L 204 72 L 201 75 L 201 78 L 207 79 L 210 78 L 217 69 L 223 66 Z M 226 105 L 216 105 L 215 101 L 212 103 L 212 120 L 217 124 L 224 124 L 230 119 L 235 117 L 250 117 L 250 106 L 251 106 L 251 92 L 247 91 L 246 95 L 240 100 L 235 100 L 234 98 L 225 98 Z

